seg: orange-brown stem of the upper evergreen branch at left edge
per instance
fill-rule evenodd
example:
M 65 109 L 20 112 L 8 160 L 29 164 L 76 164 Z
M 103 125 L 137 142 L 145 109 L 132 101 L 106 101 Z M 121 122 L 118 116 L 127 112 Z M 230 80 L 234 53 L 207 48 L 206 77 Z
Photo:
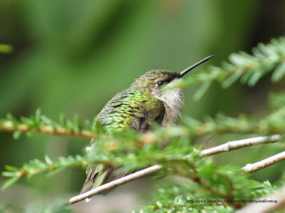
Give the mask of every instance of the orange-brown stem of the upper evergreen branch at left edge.
M 86 138 L 93 138 L 95 134 L 92 131 L 81 130 L 81 131 L 72 131 L 66 128 L 55 128 L 53 126 L 39 126 L 39 127 L 30 127 L 26 124 L 14 125 L 10 121 L 1 123 L 0 131 L 36 131 L 40 133 L 46 133 L 50 135 L 62 135 L 62 136 L 82 136 Z

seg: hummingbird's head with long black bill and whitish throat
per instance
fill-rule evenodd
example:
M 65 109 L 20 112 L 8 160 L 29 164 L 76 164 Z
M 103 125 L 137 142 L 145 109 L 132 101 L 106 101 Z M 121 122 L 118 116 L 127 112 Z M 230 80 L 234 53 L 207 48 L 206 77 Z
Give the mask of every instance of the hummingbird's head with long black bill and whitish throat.
M 187 72 L 212 58 L 211 55 L 183 70 L 170 72 L 167 70 L 150 70 L 145 75 L 135 80 L 131 87 L 140 87 L 151 92 L 157 99 L 167 104 L 167 107 L 180 110 L 184 105 L 182 89 L 167 89 L 179 81 Z

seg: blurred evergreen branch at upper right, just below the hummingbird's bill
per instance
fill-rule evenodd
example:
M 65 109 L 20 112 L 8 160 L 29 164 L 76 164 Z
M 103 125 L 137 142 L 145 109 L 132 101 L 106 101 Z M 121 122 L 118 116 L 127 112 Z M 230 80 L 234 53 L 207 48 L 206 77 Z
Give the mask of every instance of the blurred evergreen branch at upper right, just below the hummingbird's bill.
M 195 99 L 202 97 L 211 82 L 216 81 L 227 88 L 240 79 L 243 84 L 254 86 L 264 75 L 274 70 L 272 82 L 285 76 L 285 38 L 272 39 L 271 43 L 259 43 L 252 49 L 252 55 L 239 52 L 229 55 L 230 62 L 222 62 L 221 67 L 209 67 L 204 72 L 191 75 L 186 80 L 177 82 L 173 88 L 184 88 L 190 84 L 203 83 L 195 94 Z

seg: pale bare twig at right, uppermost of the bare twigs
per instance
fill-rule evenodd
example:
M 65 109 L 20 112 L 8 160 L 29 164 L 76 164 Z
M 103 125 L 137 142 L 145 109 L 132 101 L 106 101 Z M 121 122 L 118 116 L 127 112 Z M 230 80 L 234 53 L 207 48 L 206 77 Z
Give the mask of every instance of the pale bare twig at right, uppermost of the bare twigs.
M 215 146 L 213 148 L 208 148 L 199 154 L 201 158 L 207 157 L 209 155 L 215 155 L 217 153 L 228 152 L 237 148 L 243 148 L 247 146 L 254 146 L 262 143 L 275 143 L 280 141 L 282 138 L 281 135 L 273 135 L 266 137 L 257 137 L 257 138 L 247 138 L 239 141 L 229 141 L 219 146 Z

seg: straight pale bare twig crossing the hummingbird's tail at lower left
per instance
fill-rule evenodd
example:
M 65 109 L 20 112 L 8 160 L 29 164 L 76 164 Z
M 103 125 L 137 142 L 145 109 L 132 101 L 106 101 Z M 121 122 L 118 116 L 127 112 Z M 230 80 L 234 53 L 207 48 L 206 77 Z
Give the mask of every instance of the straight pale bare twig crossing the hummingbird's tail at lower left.
M 130 174 L 130 175 L 127 175 L 123 178 L 120 178 L 118 180 L 113 180 L 111 182 L 108 182 L 104 185 L 100 185 L 100 187 L 97 187 L 93 190 L 90 190 L 88 192 L 85 192 L 81 195 L 78 195 L 76 197 L 72 197 L 71 200 L 69 200 L 69 203 L 70 204 L 74 204 L 76 202 L 79 202 L 81 200 L 84 200 L 84 199 L 87 199 L 93 195 L 97 195 L 99 194 L 100 192 L 104 192 L 105 190 L 108 190 L 110 188 L 113 188 L 113 187 L 116 187 L 118 185 L 122 185 L 126 182 L 130 182 L 131 180 L 135 180 L 137 178 L 140 178 L 142 176 L 145 176 L 145 175 L 148 175 L 150 173 L 155 173 L 156 171 L 162 169 L 162 165 L 152 165 L 150 168 L 145 168 L 143 170 L 140 170 L 136 173 L 133 173 L 133 174 Z

